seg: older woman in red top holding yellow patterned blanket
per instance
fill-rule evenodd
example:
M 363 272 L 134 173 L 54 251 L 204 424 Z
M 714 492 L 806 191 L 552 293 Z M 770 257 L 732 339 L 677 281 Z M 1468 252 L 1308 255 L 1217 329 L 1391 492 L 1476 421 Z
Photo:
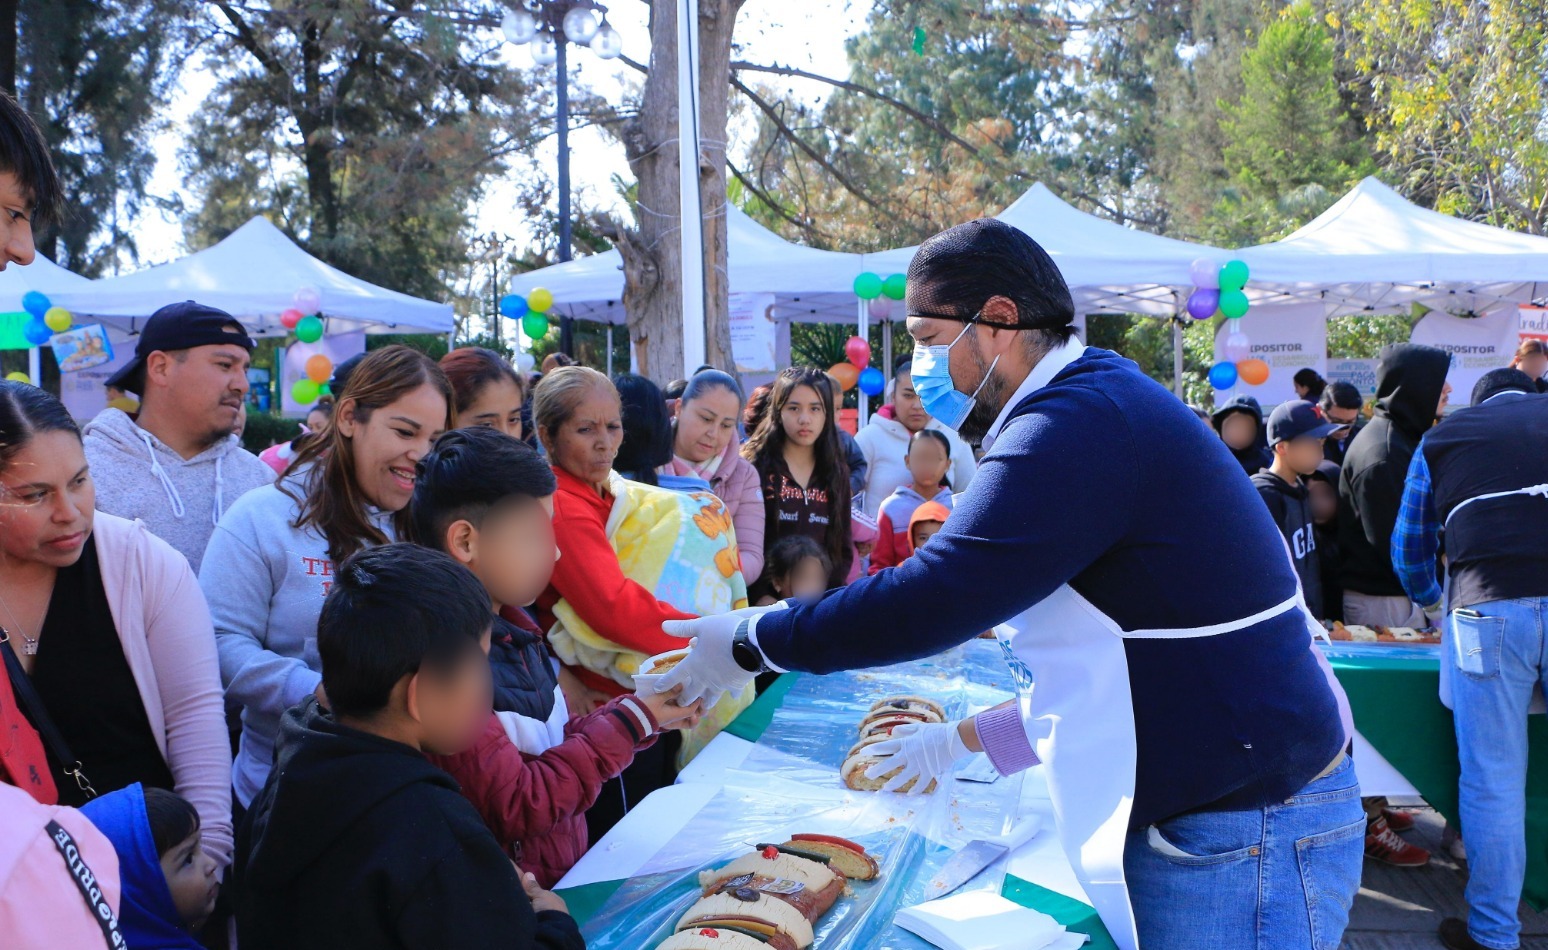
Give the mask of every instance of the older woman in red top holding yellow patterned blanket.
M 644 658 L 687 645 L 661 624 L 741 607 L 746 583 L 731 515 L 717 497 L 639 484 L 613 470 L 624 421 L 607 376 L 585 367 L 548 373 L 533 393 L 533 416 L 557 480 L 559 560 L 537 599 L 537 620 L 565 664 L 560 685 L 571 712 L 585 715 L 628 692 Z M 692 733 L 666 733 L 636 754 L 587 814 L 591 840 L 630 803 L 670 784 L 723 724 L 707 719 Z

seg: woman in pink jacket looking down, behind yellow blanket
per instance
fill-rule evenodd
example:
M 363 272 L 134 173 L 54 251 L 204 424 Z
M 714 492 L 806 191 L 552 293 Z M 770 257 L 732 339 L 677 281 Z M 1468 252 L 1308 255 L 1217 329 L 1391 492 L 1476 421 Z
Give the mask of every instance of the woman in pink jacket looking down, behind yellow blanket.
M 663 475 L 697 475 L 709 483 L 737 529 L 737 552 L 748 585 L 763 574 L 763 490 L 759 470 L 741 458 L 737 422 L 741 387 L 720 370 L 704 370 L 687 381 L 678 399 L 672 461 Z

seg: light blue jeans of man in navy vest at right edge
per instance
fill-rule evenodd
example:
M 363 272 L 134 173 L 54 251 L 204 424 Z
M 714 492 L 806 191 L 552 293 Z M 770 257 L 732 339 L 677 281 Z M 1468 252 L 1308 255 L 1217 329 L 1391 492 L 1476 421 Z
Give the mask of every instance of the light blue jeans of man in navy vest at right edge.
M 1520 945 L 1526 877 L 1526 704 L 1548 692 L 1543 617 L 1548 597 L 1491 600 L 1454 610 L 1452 710 L 1463 837 L 1468 842 L 1468 931 L 1485 947 Z

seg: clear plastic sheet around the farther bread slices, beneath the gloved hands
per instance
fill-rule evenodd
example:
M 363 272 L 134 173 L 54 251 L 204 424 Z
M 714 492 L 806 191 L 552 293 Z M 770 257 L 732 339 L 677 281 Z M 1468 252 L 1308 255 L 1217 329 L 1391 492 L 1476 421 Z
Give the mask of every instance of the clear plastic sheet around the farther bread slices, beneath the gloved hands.
M 844 788 L 839 767 L 859 740 L 861 718 L 878 699 L 899 695 L 935 699 L 947 719 L 958 719 L 1015 693 L 994 641 L 969 641 L 938 656 L 890 667 L 802 676 L 738 769 Z

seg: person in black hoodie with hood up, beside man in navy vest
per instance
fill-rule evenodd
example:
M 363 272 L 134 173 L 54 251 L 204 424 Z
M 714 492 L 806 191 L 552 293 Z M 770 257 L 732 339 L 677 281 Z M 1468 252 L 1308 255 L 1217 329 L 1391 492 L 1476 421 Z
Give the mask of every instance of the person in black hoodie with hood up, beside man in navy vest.
M 1430 625 L 1392 569 L 1392 529 L 1413 450 L 1446 408 L 1449 368 L 1450 354 L 1437 347 L 1390 343 L 1381 350 L 1376 412 L 1350 443 L 1339 473 L 1345 624 Z

